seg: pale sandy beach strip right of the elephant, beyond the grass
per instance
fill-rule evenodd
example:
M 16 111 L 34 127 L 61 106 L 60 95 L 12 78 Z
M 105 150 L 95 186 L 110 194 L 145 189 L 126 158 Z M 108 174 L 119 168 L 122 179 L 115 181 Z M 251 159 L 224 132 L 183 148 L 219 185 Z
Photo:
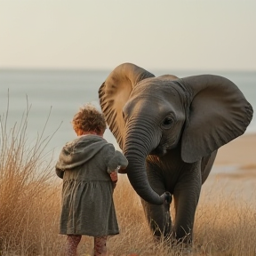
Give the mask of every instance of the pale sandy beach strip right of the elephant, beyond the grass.
M 256 134 L 244 134 L 219 149 L 203 190 L 242 196 L 256 205 Z M 248 202 L 249 202 L 248 201 Z

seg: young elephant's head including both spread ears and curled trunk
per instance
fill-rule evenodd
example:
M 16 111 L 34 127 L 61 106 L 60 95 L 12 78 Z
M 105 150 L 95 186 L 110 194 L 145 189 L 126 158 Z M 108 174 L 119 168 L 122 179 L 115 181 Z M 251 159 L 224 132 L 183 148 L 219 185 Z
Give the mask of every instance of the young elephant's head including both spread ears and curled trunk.
M 180 148 L 182 161 L 194 163 L 242 135 L 253 112 L 227 78 L 156 77 L 131 63 L 110 73 L 99 97 L 109 129 L 128 159 L 132 187 L 151 204 L 162 204 L 163 196 L 149 185 L 148 155 Z

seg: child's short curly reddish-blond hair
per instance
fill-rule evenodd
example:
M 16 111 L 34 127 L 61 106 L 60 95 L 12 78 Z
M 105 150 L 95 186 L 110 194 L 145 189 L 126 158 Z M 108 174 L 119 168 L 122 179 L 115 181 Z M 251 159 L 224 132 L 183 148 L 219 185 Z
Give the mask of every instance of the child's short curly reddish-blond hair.
M 73 117 L 72 125 L 75 131 L 94 131 L 97 134 L 104 132 L 107 128 L 103 114 L 90 103 L 79 108 L 79 111 Z

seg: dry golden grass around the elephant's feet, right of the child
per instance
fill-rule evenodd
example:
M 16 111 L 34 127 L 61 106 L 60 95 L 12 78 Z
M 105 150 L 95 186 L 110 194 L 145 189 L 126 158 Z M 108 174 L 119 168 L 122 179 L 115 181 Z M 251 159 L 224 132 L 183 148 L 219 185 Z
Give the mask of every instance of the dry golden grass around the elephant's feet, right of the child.
M 211 191 L 203 191 L 196 210 L 192 249 L 182 245 L 170 249 L 164 241 L 152 239 L 140 200 L 126 177 L 118 182 L 115 202 L 121 233 L 108 244 L 114 255 L 256 255 L 256 205 L 232 190 L 218 191 L 213 185 Z

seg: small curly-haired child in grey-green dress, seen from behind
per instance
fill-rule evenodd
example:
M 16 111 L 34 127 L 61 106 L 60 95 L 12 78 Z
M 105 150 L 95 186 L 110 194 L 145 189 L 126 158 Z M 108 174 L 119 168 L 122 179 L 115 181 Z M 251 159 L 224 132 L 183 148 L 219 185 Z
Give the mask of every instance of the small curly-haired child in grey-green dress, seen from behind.
M 116 170 L 128 161 L 102 138 L 106 122 L 92 105 L 80 108 L 72 124 L 78 138 L 62 148 L 56 164 L 63 179 L 60 234 L 68 235 L 65 255 L 76 255 L 82 235 L 94 236 L 94 256 L 107 255 L 108 236 L 119 233 L 112 197 Z

